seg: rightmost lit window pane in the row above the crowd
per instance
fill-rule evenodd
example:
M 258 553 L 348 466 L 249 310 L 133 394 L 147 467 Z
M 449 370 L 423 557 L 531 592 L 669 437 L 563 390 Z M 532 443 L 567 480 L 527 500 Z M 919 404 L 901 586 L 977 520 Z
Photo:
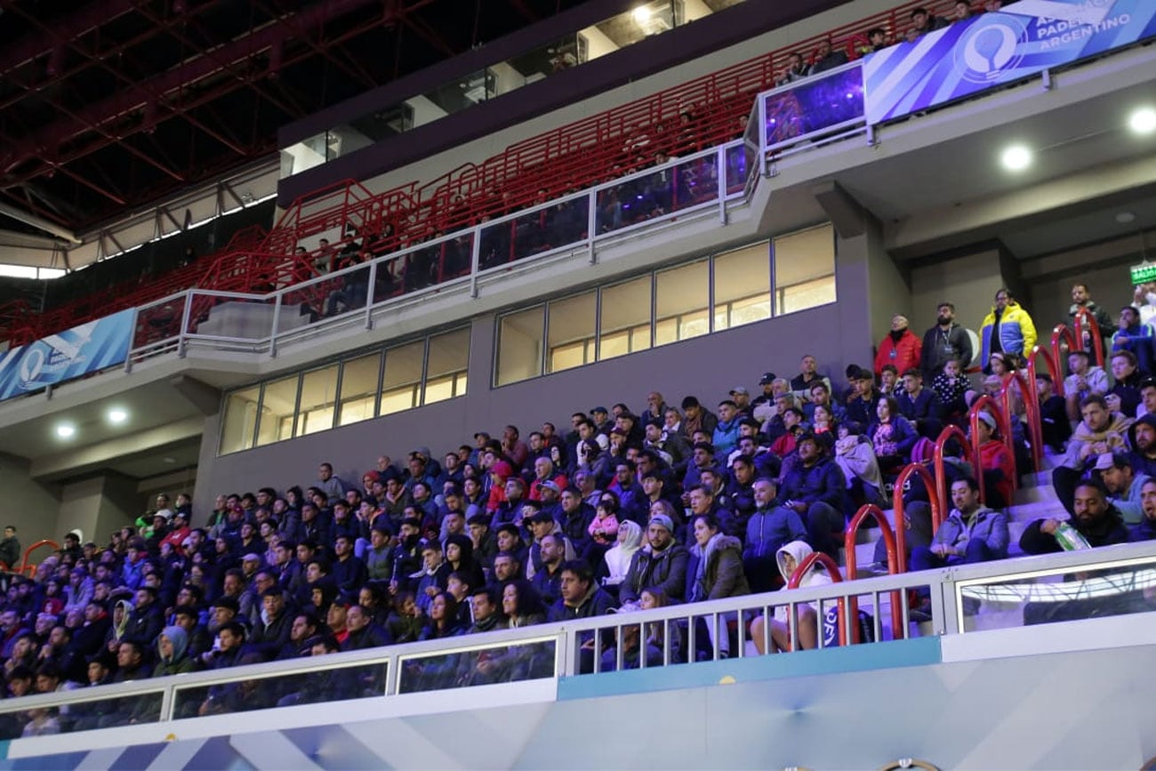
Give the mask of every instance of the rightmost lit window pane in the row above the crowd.
M 835 302 L 835 231 L 830 224 L 775 239 L 779 312 Z

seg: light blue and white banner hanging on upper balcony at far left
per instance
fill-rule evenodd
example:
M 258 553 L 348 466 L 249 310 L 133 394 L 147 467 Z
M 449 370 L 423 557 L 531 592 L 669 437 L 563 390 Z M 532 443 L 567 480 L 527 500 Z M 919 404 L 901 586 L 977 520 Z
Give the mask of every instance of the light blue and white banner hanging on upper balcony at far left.
M 6 351 L 0 357 L 0 400 L 120 364 L 128 356 L 134 314 L 120 311 Z

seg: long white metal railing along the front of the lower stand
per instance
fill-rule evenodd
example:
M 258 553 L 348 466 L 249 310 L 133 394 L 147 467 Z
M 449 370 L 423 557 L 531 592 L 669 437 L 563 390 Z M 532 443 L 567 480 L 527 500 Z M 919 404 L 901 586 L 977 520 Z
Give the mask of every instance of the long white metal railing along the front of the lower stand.
M 904 639 L 924 633 L 958 635 L 968 632 L 969 620 L 976 617 L 975 608 L 968 608 L 969 600 L 983 598 L 984 602 L 994 602 L 1005 607 L 1013 603 L 1067 603 L 1075 609 L 1085 609 L 1088 617 L 1111 615 L 1116 613 L 1134 613 L 1156 606 L 1144 605 L 1146 592 L 1150 591 L 1153 571 L 1156 568 L 1156 542 L 1127 543 L 1083 551 L 1070 551 L 1037 557 L 1020 557 L 973 565 L 957 565 L 949 569 L 904 573 L 898 576 L 881 576 L 876 578 L 842 581 L 810 588 L 798 588 L 765 594 L 746 595 L 699 602 L 677 605 L 652 610 L 617 613 L 594 618 L 569 622 L 538 624 L 523 629 L 502 630 L 464 637 L 452 637 L 442 640 L 391 645 L 364 651 L 335 653 L 320 658 L 291 659 L 269 663 L 246 665 L 195 674 L 160 677 L 155 680 L 125 682 L 113 685 L 101 685 L 72 691 L 58 691 L 37 696 L 21 697 L 0 702 L 0 714 L 23 712 L 36 707 L 69 707 L 73 714 L 82 714 L 86 705 L 95 703 L 116 704 L 119 700 L 151 698 L 156 702 L 153 720 L 168 722 L 183 717 L 192 717 L 187 710 L 180 713 L 180 705 L 197 697 L 200 691 L 214 687 L 238 685 L 240 683 L 276 682 L 279 679 L 291 687 L 299 688 L 306 675 L 314 673 L 332 673 L 351 669 L 351 672 L 376 673 L 376 690 L 363 690 L 358 698 L 386 697 L 393 698 L 413 692 L 430 690 L 428 687 L 407 685 L 405 673 L 414 667 L 422 667 L 430 659 L 440 659 L 442 665 L 457 657 L 460 666 L 468 668 L 472 655 L 492 652 L 499 655 L 505 651 L 534 650 L 540 660 L 548 662 L 548 673 L 539 673 L 547 677 L 571 677 L 580 675 L 599 676 L 596 673 L 605 667 L 600 659 L 610 651 L 614 666 L 622 668 L 624 662 L 623 642 L 635 630 L 645 630 L 657 624 L 665 629 L 679 629 L 682 639 L 687 640 L 684 655 L 675 657 L 669 647 L 664 647 L 661 657 L 651 661 L 645 646 L 638 657 L 640 668 L 654 666 L 675 666 L 683 661 L 694 662 L 703 659 L 719 659 L 725 653 L 721 643 L 724 622 L 734 622 L 734 642 L 731 655 L 750 655 L 748 642 L 749 622 L 758 616 L 771 617 L 776 608 L 786 608 L 787 617 L 795 620 L 790 623 L 792 647 L 798 647 L 798 610 L 805 605 L 828 607 L 850 607 L 858 601 L 860 607 L 873 611 L 870 629 L 877 644 L 885 645 L 888 640 Z M 1105 580 L 1114 577 L 1114 580 Z M 1025 586 L 1024 581 L 1046 583 L 1052 590 L 1046 593 L 1021 592 L 1017 596 L 991 595 L 987 588 Z M 1055 587 L 1066 591 L 1057 593 Z M 1114 586 L 1116 594 L 1106 591 Z M 1085 590 L 1094 588 L 1095 592 Z M 928 624 L 919 625 L 920 618 L 912 616 L 907 605 L 911 592 L 924 592 L 931 599 L 931 617 Z M 898 593 L 903 600 L 902 630 L 889 629 L 882 613 L 889 602 L 889 596 Z M 1121 600 L 1135 598 L 1139 605 L 1121 605 Z M 999 605 L 1003 603 L 1003 605 Z M 1083 603 L 1083 605 L 1082 605 Z M 1090 605 L 1089 605 L 1090 603 Z M 1106 605 L 1105 605 L 1106 603 Z M 1027 606 L 1023 606 L 1027 607 Z M 820 614 L 822 617 L 822 614 Z M 1070 614 L 1068 616 L 1069 620 Z M 855 617 L 847 617 L 846 624 L 858 627 Z M 1022 623 L 1022 621 L 1021 621 Z M 1018 624 L 1016 624 L 1018 625 Z M 768 625 L 764 624 L 764 630 Z M 696 643 L 703 629 L 718 630 L 709 644 Z M 709 633 L 709 632 L 706 632 Z M 765 632 L 764 632 L 765 633 Z M 1042 632 L 1046 633 L 1046 632 Z M 669 640 L 673 636 L 666 635 Z M 823 636 L 818 636 L 820 647 L 823 647 Z M 764 639 L 764 648 L 769 642 Z M 1150 640 L 1136 640 L 1138 644 Z M 757 645 L 756 645 L 757 647 Z M 821 653 L 821 652 L 820 652 Z M 477 659 L 481 660 L 481 659 Z M 379 672 L 378 672 L 379 670 Z M 455 687 L 457 680 L 436 685 L 436 689 Z M 344 697 L 348 697 L 346 695 Z M 193 698 L 195 703 L 197 698 Z M 319 699 L 326 700 L 324 698 Z M 318 702 L 312 702 L 318 703 Z M 253 709 L 260 709 L 257 704 Z M 266 705 L 267 706 L 267 705 Z

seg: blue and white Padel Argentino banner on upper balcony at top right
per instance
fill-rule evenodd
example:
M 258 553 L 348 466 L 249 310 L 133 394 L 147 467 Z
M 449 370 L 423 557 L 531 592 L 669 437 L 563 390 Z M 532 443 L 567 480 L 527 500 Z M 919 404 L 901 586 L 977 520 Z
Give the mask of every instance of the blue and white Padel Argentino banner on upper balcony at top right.
M 864 60 L 879 124 L 1156 35 L 1153 0 L 1020 0 Z

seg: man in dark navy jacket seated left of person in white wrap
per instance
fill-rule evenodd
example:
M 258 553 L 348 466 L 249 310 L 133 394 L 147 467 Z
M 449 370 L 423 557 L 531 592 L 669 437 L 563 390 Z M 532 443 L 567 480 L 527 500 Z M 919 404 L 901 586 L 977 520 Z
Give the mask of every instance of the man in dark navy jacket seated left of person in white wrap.
M 800 514 L 807 526 L 807 540 L 829 557 L 837 558 L 846 526 L 846 480 L 843 470 L 827 455 L 815 435 L 799 437 L 799 462 L 783 475 L 779 499 Z M 837 540 L 838 539 L 838 540 Z

